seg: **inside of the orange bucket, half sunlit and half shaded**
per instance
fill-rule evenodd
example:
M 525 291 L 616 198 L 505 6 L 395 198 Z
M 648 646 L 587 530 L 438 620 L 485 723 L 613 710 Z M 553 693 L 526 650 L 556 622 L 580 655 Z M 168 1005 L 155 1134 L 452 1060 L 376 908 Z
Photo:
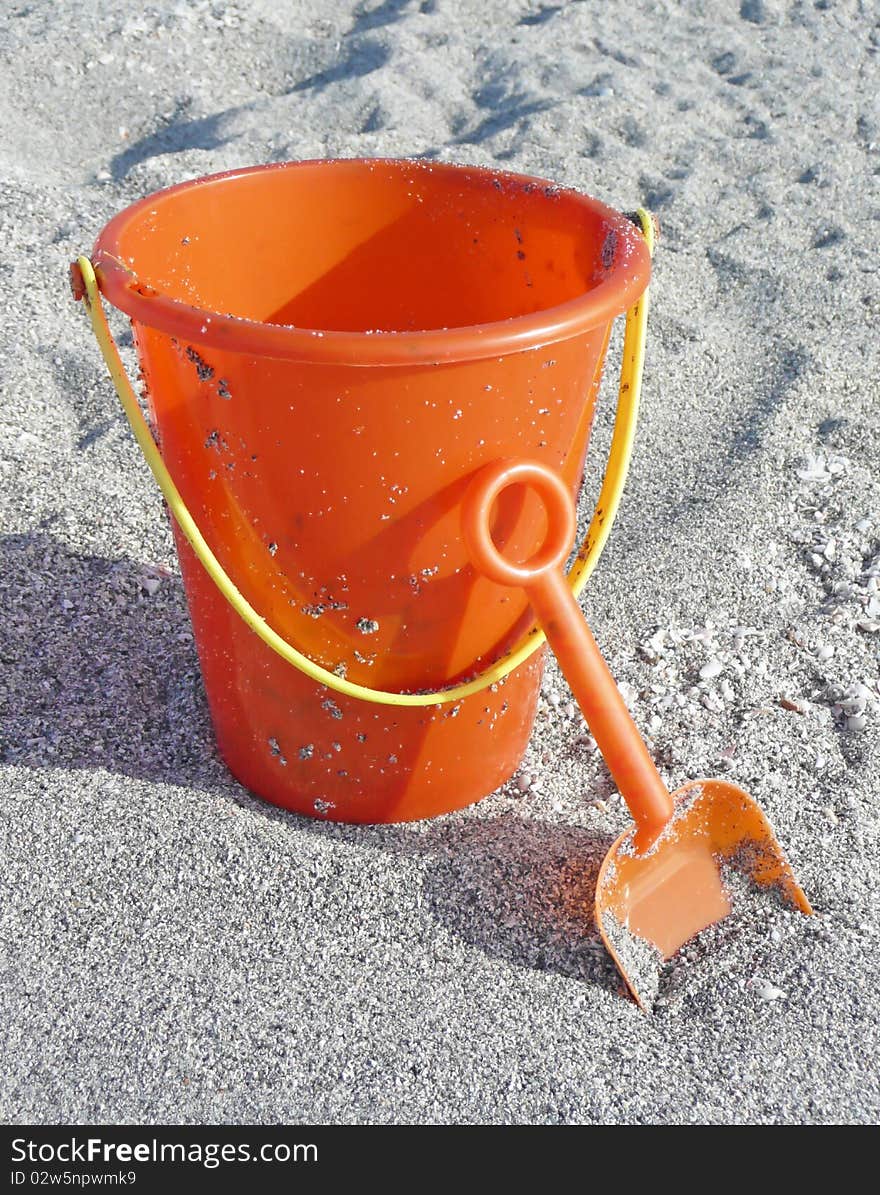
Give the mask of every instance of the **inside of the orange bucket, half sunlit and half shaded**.
M 301 163 L 139 204 L 115 252 L 204 311 L 325 331 L 528 315 L 604 281 L 616 232 L 581 196 L 426 163 Z

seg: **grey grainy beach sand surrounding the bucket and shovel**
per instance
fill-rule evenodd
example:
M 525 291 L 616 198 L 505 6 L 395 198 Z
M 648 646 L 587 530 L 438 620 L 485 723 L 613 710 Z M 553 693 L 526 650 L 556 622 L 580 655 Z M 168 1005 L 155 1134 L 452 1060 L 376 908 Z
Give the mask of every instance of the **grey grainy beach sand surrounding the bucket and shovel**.
M 0 1115 L 875 1121 L 864 6 L 85 0 L 0 20 Z M 429 825 L 287 816 L 216 758 L 167 525 L 66 268 L 159 186 L 324 154 L 497 164 L 662 222 L 632 472 L 585 607 L 670 783 L 748 789 L 817 913 L 677 967 L 652 1017 L 589 921 L 625 811 L 552 668 L 521 776 Z M 594 461 L 612 398 L 613 369 Z

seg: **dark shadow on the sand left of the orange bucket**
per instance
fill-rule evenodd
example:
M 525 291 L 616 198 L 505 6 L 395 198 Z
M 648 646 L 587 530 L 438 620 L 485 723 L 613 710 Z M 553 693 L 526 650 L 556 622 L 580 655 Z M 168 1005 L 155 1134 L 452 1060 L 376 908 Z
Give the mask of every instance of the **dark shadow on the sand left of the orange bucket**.
M 0 539 L 0 760 L 224 783 L 177 577 L 151 596 L 148 566 L 45 533 Z

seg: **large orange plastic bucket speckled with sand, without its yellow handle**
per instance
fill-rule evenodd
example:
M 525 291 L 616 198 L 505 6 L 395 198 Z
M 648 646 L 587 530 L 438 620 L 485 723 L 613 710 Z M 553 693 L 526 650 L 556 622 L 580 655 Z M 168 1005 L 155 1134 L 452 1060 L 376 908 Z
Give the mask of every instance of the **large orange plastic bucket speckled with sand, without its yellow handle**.
M 305 161 L 173 186 L 117 215 L 92 256 L 130 317 L 153 436 L 221 568 L 281 658 L 227 603 L 175 523 L 216 740 L 286 809 L 407 821 L 470 804 L 519 765 L 542 652 L 462 700 L 532 625 L 479 576 L 460 528 L 470 478 L 502 456 L 576 494 L 611 321 L 648 283 L 634 225 L 595 200 L 493 170 Z M 495 513 L 526 559 L 543 507 Z

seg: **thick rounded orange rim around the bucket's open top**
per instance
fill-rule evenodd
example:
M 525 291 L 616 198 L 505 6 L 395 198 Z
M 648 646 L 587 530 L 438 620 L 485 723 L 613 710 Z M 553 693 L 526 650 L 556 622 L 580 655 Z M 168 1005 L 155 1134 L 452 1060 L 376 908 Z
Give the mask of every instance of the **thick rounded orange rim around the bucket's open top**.
M 613 262 L 597 286 L 574 299 L 527 315 L 483 324 L 416 331 L 340 331 L 268 324 L 172 299 L 142 282 L 121 258 L 126 229 L 145 208 L 194 188 L 212 188 L 255 173 L 328 168 L 358 164 L 399 166 L 427 172 L 457 172 L 508 186 L 539 188 L 549 200 L 566 197 L 597 213 L 617 234 Z M 255 357 L 350 366 L 420 366 L 473 361 L 537 349 L 605 325 L 628 311 L 650 278 L 650 253 L 644 238 L 623 213 L 574 188 L 538 176 L 412 158 L 308 158 L 237 167 L 176 183 L 143 196 L 117 213 L 100 231 L 92 251 L 98 286 L 106 300 L 130 319 L 187 343 Z

